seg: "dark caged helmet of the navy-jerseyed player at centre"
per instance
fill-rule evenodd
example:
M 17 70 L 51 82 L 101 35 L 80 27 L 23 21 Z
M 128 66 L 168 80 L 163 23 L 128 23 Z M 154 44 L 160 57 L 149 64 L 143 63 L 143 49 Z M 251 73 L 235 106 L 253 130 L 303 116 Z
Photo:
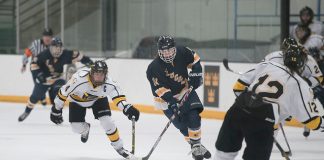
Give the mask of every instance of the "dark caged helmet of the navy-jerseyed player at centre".
M 172 63 L 176 56 L 174 39 L 171 36 L 160 36 L 157 47 L 160 59 L 165 63 Z

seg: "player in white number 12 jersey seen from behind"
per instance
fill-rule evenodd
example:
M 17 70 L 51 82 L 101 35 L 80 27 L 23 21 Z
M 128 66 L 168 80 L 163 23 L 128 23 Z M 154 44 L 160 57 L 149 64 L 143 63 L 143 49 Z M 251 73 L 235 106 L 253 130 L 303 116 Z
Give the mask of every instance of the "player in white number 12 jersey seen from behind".
M 284 65 L 262 62 L 239 77 L 234 86 L 238 97 L 219 131 L 215 159 L 233 160 L 243 139 L 246 142 L 243 159 L 270 159 L 273 126 L 289 116 L 308 128 L 324 131 L 318 113 L 322 106 L 298 74 L 306 60 L 303 52 L 300 46 L 292 45 L 283 54 Z

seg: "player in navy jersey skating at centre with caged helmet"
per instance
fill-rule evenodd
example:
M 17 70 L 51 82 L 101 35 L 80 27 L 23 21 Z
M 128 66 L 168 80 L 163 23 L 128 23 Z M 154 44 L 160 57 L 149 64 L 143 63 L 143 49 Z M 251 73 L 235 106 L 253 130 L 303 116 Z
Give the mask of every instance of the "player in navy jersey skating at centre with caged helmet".
M 190 87 L 197 89 L 202 84 L 202 67 L 196 52 L 188 47 L 176 46 L 170 36 L 160 36 L 158 57 L 148 66 L 146 74 L 150 82 L 155 106 L 170 118 L 177 114 L 173 125 L 191 144 L 195 160 L 210 158 L 210 152 L 201 144 L 201 117 L 204 107 L 195 91 L 178 108 L 178 102 Z M 191 70 L 188 74 L 188 69 Z

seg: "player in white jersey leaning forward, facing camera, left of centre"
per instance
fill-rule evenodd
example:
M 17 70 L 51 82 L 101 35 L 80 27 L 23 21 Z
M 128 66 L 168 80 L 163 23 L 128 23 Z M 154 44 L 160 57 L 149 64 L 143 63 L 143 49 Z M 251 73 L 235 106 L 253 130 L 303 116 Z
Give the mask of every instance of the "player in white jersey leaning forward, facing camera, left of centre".
M 107 73 L 108 67 L 104 61 L 96 61 L 91 65 L 90 70 L 80 70 L 75 73 L 58 92 L 50 118 L 55 124 L 63 122 L 62 108 L 68 99 L 72 130 L 81 134 L 81 141 L 85 143 L 90 131 L 90 124 L 85 122 L 86 109 L 92 108 L 94 117 L 100 121 L 114 149 L 124 158 L 133 158 L 133 155 L 123 147 L 118 129 L 111 118 L 107 96 L 128 119 L 134 118 L 137 121 L 140 113 L 133 105 L 126 102 L 125 95 L 116 82 L 107 76 Z

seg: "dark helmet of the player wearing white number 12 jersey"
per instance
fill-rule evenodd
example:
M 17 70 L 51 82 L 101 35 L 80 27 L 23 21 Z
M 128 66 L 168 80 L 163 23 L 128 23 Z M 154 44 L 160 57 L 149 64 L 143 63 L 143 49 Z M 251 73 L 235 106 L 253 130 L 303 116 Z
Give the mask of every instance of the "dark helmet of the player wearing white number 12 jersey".
M 299 73 L 307 60 L 307 51 L 301 45 L 291 45 L 283 54 L 284 64 L 291 71 Z

